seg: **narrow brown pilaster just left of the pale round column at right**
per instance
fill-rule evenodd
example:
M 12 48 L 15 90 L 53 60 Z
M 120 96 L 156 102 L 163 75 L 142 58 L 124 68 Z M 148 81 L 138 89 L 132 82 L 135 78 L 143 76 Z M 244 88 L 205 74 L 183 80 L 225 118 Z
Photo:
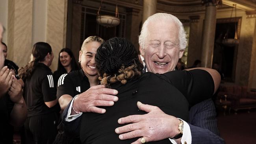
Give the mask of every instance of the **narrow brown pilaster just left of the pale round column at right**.
M 200 23 L 200 16 L 189 16 L 189 43 L 187 51 L 187 66 L 192 66 L 194 61 L 201 59 L 201 36 L 202 36 L 202 22 Z

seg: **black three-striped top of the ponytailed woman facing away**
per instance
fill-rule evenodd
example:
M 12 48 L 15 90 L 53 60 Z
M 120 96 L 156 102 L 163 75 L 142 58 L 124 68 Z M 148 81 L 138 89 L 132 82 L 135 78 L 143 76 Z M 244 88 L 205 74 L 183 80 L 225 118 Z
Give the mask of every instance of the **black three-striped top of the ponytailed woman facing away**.
M 56 89 L 51 69 L 38 63 L 30 78 L 25 80 L 24 100 L 28 107 L 28 117 L 56 112 L 58 105 L 47 107 L 45 102 L 56 100 Z

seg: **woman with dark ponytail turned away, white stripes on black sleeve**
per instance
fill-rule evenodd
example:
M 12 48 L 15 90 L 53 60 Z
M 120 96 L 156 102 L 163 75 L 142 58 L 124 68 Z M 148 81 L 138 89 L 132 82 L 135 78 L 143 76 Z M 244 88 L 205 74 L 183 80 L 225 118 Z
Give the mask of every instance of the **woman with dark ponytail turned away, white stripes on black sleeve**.
M 32 49 L 33 60 L 20 68 L 20 78 L 25 83 L 24 99 L 28 117 L 24 124 L 26 143 L 52 144 L 57 133 L 58 115 L 55 106 L 56 89 L 52 71 L 54 54 L 50 44 L 37 42 Z

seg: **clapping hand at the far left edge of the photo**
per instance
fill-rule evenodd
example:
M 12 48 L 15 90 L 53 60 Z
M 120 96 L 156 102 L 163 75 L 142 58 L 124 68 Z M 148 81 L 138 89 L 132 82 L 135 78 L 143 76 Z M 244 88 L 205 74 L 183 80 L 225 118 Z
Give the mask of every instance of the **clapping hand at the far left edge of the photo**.
M 0 97 L 10 89 L 12 81 L 12 72 L 10 72 L 7 66 L 4 66 L 0 70 Z

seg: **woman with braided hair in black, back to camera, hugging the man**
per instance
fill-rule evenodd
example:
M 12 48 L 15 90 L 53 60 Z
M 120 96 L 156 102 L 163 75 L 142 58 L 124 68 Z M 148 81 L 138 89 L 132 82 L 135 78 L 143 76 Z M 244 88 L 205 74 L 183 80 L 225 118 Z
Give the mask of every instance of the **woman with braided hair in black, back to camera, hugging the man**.
M 83 144 L 130 144 L 136 141 L 137 138 L 120 140 L 115 128 L 122 126 L 117 123 L 120 117 L 146 113 L 138 110 L 137 102 L 158 106 L 165 114 L 187 120 L 189 107 L 210 98 L 217 89 L 215 71 L 207 68 L 142 74 L 139 55 L 132 43 L 124 38 L 104 42 L 96 52 L 95 61 L 100 83 L 118 90 L 119 100 L 112 107 L 102 107 L 106 109 L 104 114 L 82 114 L 80 139 Z M 165 139 L 149 143 L 171 142 Z

